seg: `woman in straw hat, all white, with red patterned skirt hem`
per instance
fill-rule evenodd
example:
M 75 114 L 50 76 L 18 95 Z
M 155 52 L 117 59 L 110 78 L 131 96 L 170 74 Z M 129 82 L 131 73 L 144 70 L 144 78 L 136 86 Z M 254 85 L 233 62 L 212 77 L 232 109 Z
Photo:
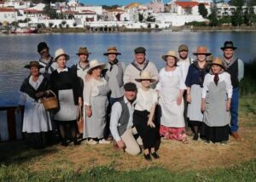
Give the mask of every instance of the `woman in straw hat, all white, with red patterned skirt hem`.
M 156 86 L 160 96 L 160 135 L 186 144 L 183 117 L 183 91 L 186 86 L 182 70 L 177 66 L 178 58 L 174 51 L 168 51 L 162 59 L 166 61 L 166 67 L 160 70 L 160 81 Z

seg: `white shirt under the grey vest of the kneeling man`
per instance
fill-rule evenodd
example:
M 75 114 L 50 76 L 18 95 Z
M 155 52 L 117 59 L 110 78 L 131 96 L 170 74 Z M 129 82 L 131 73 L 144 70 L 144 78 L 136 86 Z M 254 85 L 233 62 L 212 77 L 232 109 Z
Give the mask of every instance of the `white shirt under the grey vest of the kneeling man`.
M 129 109 L 129 122 L 127 124 L 126 129 L 132 128 L 133 126 L 133 111 L 134 111 L 134 105 L 136 102 L 129 102 L 126 97 L 124 96 L 125 104 L 127 103 L 128 109 Z M 122 105 L 119 102 L 115 102 L 112 106 L 111 110 L 111 117 L 110 117 L 110 131 L 113 136 L 113 139 L 116 141 L 121 140 L 121 137 L 119 136 L 118 126 L 119 126 L 119 119 L 121 117 L 122 113 Z

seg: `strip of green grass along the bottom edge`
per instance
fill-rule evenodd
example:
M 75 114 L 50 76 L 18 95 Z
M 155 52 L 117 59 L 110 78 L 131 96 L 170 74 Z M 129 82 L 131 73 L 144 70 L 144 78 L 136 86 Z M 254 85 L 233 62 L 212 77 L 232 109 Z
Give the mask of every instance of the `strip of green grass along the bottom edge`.
M 188 169 L 189 170 L 189 169 Z M 92 168 L 86 172 L 53 170 L 34 172 L 19 166 L 1 166 L 0 181 L 255 181 L 256 160 L 230 168 L 205 169 L 173 173 L 164 168 L 116 171 L 110 166 Z

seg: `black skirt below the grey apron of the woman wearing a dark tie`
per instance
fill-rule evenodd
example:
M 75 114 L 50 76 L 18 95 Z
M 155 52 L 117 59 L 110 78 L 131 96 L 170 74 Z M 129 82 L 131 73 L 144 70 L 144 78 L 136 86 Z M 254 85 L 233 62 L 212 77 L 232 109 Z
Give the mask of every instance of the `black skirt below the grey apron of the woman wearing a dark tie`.
M 207 141 L 221 142 L 229 140 L 229 125 L 223 127 L 209 127 L 207 124 L 204 125 L 204 136 Z

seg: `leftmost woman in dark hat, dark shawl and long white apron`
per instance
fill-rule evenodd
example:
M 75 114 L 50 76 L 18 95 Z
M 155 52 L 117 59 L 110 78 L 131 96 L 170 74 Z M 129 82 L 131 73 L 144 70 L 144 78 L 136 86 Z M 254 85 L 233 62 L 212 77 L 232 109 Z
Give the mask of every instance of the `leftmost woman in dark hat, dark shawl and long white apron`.
M 49 112 L 44 110 L 40 98 L 47 94 L 49 81 L 39 73 L 42 65 L 38 61 L 31 61 L 25 66 L 30 69 L 27 77 L 20 87 L 20 106 L 24 105 L 22 132 L 25 133 L 27 145 L 33 148 L 42 148 L 51 143 L 51 121 Z

